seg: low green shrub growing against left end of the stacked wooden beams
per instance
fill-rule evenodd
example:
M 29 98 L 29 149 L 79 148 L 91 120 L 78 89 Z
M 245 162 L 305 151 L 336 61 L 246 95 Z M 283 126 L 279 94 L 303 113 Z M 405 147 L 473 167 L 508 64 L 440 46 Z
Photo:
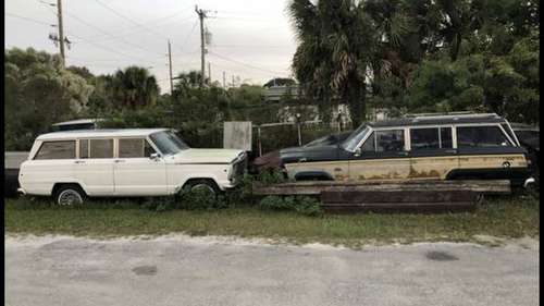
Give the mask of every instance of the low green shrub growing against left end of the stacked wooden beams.
M 319 216 L 323 212 L 320 203 L 307 196 L 267 196 L 259 207 L 265 210 L 292 210 L 306 216 Z

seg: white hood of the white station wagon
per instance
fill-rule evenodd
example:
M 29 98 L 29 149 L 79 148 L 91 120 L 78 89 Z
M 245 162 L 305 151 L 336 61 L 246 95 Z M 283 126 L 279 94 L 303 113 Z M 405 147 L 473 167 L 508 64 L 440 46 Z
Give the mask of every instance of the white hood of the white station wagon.
M 186 149 L 176 154 L 174 159 L 187 163 L 231 163 L 243 154 L 236 149 Z

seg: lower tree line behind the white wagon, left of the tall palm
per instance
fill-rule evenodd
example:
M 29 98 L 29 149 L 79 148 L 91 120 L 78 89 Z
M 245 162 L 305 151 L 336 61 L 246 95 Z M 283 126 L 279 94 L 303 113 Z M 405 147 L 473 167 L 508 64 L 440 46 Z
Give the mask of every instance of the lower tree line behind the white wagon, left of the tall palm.
M 8 150 L 27 150 L 52 123 L 79 118 L 104 119 L 102 127 L 172 127 L 194 146 L 221 146 L 223 121 L 276 122 L 285 105 L 263 105 L 260 85 L 200 87 L 196 71 L 180 73 L 172 95 L 161 95 L 141 66 L 94 75 L 85 66 L 64 69 L 58 54 L 32 48 L 7 50 L 4 63 Z

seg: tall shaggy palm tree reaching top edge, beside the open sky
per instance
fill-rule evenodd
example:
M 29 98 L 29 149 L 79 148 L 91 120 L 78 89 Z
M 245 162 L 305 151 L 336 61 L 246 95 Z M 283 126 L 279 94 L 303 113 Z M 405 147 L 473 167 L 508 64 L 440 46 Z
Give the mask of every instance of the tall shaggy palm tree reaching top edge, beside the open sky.
M 354 126 L 359 125 L 366 118 L 367 71 L 379 38 L 363 1 L 293 0 L 288 11 L 299 41 L 293 69 L 308 98 L 322 113 L 346 102 Z

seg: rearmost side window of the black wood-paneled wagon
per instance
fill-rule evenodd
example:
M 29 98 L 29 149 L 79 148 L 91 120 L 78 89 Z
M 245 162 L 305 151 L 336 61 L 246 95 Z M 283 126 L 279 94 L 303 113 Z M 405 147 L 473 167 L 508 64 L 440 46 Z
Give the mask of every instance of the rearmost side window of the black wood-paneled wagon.
M 457 147 L 507 147 L 511 146 L 498 126 L 458 126 Z

